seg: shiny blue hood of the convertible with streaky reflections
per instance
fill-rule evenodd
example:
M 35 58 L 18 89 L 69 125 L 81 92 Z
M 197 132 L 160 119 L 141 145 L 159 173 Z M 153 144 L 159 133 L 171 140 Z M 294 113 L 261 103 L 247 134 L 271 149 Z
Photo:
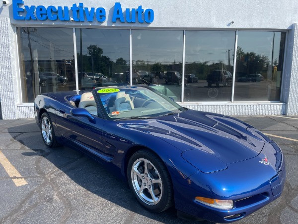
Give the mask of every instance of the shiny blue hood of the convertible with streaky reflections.
M 203 150 L 225 164 L 253 158 L 265 144 L 256 129 L 238 119 L 216 113 L 187 110 L 154 119 L 117 122 L 161 138 L 182 152 Z

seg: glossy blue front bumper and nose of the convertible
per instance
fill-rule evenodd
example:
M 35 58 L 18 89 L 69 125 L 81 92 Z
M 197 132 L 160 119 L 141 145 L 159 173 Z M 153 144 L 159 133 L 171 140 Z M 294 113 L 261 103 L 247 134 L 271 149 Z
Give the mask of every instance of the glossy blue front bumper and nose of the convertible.
M 264 157 L 268 157 L 270 165 L 260 162 Z M 254 158 L 228 164 L 224 171 L 209 174 L 199 171 L 188 177 L 183 186 L 179 184 L 180 189 L 174 189 L 175 207 L 199 219 L 232 223 L 279 198 L 285 180 L 285 161 L 279 147 L 274 142 L 266 143 Z M 215 209 L 195 201 L 197 196 L 233 200 L 234 207 Z

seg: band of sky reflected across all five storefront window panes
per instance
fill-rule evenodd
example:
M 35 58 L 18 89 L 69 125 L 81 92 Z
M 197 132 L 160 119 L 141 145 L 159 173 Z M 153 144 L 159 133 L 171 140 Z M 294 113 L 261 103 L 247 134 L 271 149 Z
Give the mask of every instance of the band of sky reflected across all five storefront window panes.
M 23 48 L 28 46 L 27 28 L 19 27 L 22 33 Z M 39 60 L 73 59 L 72 28 L 29 28 L 32 49 L 38 50 Z M 271 60 L 272 31 L 239 31 L 238 46 L 244 52 L 255 52 Z M 76 29 L 77 52 L 79 52 L 79 29 Z M 228 63 L 233 62 L 235 31 L 186 31 L 186 63 Z M 275 32 L 273 60 L 279 59 L 281 32 Z M 87 47 L 97 45 L 103 55 L 116 61 L 129 59 L 129 30 L 121 29 L 82 29 L 82 53 L 88 55 Z M 133 61 L 144 60 L 153 64 L 182 62 L 183 31 L 180 30 L 132 30 Z M 23 51 L 25 60 L 30 59 L 29 50 Z

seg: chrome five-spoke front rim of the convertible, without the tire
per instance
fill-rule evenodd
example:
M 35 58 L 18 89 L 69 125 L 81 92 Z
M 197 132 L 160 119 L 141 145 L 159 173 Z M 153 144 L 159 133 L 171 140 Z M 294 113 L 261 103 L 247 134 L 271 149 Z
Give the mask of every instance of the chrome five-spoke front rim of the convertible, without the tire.
M 156 205 L 162 198 L 162 181 L 158 170 L 147 159 L 137 159 L 131 170 L 136 194 L 147 205 Z

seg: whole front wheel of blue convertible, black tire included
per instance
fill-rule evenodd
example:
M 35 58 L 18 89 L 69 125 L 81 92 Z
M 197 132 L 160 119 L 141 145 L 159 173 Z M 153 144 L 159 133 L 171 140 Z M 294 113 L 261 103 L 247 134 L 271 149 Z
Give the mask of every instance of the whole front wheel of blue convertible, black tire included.
M 128 163 L 127 177 L 133 195 L 150 212 L 160 213 L 172 206 L 170 175 L 160 158 L 149 150 L 142 149 L 132 155 Z

